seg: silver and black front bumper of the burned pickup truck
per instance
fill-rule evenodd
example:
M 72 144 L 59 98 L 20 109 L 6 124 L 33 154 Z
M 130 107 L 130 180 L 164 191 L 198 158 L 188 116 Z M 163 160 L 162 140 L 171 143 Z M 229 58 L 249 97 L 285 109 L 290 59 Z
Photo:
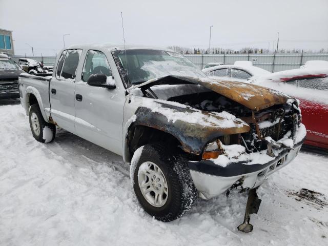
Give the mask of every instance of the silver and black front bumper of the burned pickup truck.
M 232 162 L 227 167 L 216 165 L 211 160 L 189 161 L 190 174 L 201 198 L 210 199 L 226 192 L 236 181 L 243 178 L 243 188 L 254 188 L 277 170 L 288 165 L 298 154 L 305 138 L 292 150 L 284 149 L 279 155 L 264 164 L 247 165 Z

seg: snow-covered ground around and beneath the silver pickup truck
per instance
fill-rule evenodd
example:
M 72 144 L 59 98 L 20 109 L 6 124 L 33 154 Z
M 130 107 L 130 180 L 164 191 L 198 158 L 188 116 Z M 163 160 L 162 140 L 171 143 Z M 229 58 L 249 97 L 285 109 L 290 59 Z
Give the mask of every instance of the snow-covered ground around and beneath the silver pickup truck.
M 252 233 L 236 229 L 237 192 L 165 223 L 139 207 L 120 156 L 64 130 L 40 144 L 19 103 L 0 104 L 0 245 L 328 245 L 328 207 L 293 195 L 328 197 L 328 156 L 301 152 L 264 183 Z

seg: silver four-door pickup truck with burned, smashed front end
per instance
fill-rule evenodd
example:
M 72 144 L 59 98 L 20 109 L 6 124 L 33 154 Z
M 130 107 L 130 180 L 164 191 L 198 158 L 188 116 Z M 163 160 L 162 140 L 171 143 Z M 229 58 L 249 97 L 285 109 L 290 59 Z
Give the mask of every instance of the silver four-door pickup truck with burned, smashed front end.
M 306 134 L 296 99 L 208 78 L 172 50 L 72 46 L 52 76 L 23 73 L 18 83 L 36 140 L 52 141 L 59 127 L 121 155 L 141 206 L 162 221 L 234 188 L 259 204 L 256 188 Z

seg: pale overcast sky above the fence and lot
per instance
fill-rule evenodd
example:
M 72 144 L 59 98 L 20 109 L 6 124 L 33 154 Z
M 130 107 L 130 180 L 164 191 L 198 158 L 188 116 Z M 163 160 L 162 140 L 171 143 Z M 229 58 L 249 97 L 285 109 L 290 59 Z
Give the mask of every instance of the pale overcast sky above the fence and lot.
M 161 3 L 160 3 L 161 2 Z M 53 55 L 66 46 L 127 44 L 238 49 L 328 49 L 327 0 L 0 0 L 0 28 L 13 31 L 15 54 Z M 269 43 L 270 42 L 270 43 Z M 275 43 L 276 45 L 276 43 Z

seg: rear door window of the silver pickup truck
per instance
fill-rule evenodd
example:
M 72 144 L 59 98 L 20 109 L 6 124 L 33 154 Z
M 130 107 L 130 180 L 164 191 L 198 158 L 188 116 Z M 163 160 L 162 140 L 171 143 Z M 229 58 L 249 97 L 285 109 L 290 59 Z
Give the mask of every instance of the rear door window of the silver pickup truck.
M 63 68 L 61 68 L 60 76 L 61 79 L 74 79 L 76 76 L 76 69 L 78 65 L 79 58 L 81 56 L 82 50 L 68 50 L 63 63 Z M 59 60 L 60 62 L 60 60 Z M 59 64 L 58 64 L 59 66 Z M 58 70 L 57 70 L 58 72 Z

